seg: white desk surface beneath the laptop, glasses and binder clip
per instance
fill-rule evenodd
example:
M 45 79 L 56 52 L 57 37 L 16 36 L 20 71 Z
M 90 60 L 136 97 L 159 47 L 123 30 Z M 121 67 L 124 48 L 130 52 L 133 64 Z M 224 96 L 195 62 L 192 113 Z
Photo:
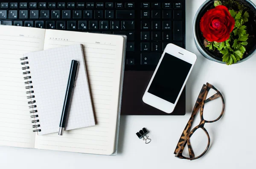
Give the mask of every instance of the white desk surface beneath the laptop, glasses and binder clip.
M 252 0 L 256 3 L 256 0 Z M 255 72 L 256 56 L 227 66 L 205 59 L 197 50 L 192 24 L 204 0 L 186 0 L 186 49 L 198 56 L 186 85 L 185 116 L 122 116 L 116 156 L 79 154 L 0 146 L 1 169 L 241 169 L 255 167 Z M 175 158 L 177 141 L 190 118 L 204 83 L 224 95 L 226 111 L 221 120 L 206 124 L 212 146 L 194 161 Z M 135 133 L 146 127 L 152 139 L 144 144 Z M 254 166 L 254 167 L 253 167 Z

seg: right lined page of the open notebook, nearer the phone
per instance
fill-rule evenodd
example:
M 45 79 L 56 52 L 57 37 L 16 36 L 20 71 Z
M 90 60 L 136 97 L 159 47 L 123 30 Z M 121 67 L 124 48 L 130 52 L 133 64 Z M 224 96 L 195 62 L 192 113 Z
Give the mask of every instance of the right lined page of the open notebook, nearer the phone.
M 114 151 L 120 89 L 121 36 L 47 30 L 44 49 L 83 44 L 96 126 L 56 134 L 36 135 L 35 148 L 111 155 Z

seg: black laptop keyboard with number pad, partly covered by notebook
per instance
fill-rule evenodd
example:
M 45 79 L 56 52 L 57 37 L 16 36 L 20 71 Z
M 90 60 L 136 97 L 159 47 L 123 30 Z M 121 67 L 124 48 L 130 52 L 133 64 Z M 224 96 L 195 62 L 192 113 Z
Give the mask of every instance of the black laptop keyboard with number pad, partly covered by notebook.
M 154 70 L 168 43 L 185 48 L 185 0 L 11 0 L 0 3 L 0 24 L 124 34 L 125 70 Z

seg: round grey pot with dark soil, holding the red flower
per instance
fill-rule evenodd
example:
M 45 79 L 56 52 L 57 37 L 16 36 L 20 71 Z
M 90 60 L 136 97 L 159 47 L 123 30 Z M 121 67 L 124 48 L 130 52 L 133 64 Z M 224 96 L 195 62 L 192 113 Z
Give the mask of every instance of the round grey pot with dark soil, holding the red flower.
M 230 4 L 236 3 L 237 4 L 242 4 L 242 7 L 244 8 L 245 11 L 249 13 L 249 21 L 245 23 L 244 25 L 247 26 L 247 34 L 249 34 L 249 39 L 248 39 L 248 45 L 246 46 L 246 52 L 244 53 L 243 58 L 236 62 L 236 63 L 241 63 L 247 59 L 249 59 L 253 54 L 256 53 L 256 5 L 252 3 L 250 0 L 221 0 L 223 3 L 230 2 Z M 197 13 L 195 14 L 195 19 L 194 19 L 194 24 L 193 24 L 193 33 L 194 33 L 194 39 L 195 39 L 195 44 L 198 48 L 198 51 L 207 59 L 210 59 L 212 61 L 218 62 L 218 63 L 224 63 L 222 62 L 222 54 L 216 51 L 209 51 L 205 46 L 204 46 L 204 37 L 203 34 L 201 33 L 200 30 L 200 20 L 203 17 L 203 15 L 207 12 L 207 10 L 214 8 L 213 6 L 214 0 L 207 0 L 205 1 L 200 8 L 198 9 Z M 227 8 L 234 8 L 234 10 L 237 7 L 233 6 L 228 6 L 226 5 Z

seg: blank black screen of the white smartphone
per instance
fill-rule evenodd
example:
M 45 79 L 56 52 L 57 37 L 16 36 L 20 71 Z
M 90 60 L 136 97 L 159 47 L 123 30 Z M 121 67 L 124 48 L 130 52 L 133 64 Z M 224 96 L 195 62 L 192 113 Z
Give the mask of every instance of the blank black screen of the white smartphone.
M 175 104 L 191 67 L 192 64 L 165 53 L 148 93 Z

